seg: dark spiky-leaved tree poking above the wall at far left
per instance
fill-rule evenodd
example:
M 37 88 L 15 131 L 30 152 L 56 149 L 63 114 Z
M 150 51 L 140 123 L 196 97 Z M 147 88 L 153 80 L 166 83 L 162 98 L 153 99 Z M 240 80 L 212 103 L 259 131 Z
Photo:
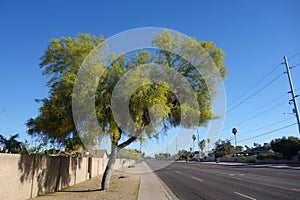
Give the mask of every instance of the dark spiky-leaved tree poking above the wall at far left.
M 23 143 L 19 142 L 17 138 L 19 134 L 11 135 L 9 139 L 6 139 L 0 135 L 0 144 L 4 145 L 3 151 L 6 153 L 18 152 L 22 149 Z

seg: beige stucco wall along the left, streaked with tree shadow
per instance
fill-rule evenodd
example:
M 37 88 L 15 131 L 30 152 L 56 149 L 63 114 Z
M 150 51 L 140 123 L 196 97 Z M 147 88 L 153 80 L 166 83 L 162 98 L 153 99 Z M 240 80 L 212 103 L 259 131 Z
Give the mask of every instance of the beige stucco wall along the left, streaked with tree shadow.
M 106 163 L 92 158 L 90 176 L 103 174 Z M 0 153 L 0 199 L 30 199 L 86 181 L 88 164 L 88 158 Z

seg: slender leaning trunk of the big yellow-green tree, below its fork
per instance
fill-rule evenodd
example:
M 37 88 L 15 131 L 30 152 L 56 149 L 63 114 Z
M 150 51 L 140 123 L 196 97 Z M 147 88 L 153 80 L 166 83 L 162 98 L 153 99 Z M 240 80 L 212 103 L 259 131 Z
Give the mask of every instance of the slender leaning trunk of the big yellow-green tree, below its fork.
M 104 174 L 102 177 L 101 190 L 107 190 L 109 188 L 110 177 L 111 177 L 112 171 L 114 169 L 117 155 L 118 155 L 118 146 L 112 144 L 111 145 L 111 154 L 109 156 L 109 160 L 108 160 L 107 166 L 105 168 L 105 171 L 104 171 Z

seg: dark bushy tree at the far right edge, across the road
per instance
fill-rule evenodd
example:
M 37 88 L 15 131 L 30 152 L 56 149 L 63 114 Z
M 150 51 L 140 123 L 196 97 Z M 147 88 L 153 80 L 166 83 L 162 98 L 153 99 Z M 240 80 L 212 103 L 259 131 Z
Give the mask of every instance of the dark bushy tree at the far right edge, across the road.
M 291 159 L 300 151 L 300 140 L 297 137 L 282 137 L 271 141 L 272 150 L 281 153 L 284 159 Z

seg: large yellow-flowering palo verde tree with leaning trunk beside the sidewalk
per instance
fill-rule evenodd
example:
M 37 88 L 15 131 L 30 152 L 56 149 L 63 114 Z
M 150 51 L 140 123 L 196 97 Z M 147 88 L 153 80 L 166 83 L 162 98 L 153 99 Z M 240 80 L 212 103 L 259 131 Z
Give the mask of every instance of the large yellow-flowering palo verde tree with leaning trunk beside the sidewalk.
M 169 31 L 156 35 L 154 50 L 142 49 L 118 57 L 112 54 L 109 62 L 102 57 L 105 47 L 94 49 L 101 42 L 103 37 L 87 34 L 51 41 L 40 63 L 43 74 L 50 77 L 49 96 L 40 100 L 39 116 L 27 125 L 29 134 L 61 143 L 79 135 L 83 144 L 92 146 L 104 135 L 109 136 L 111 154 L 101 184 L 102 189 L 108 189 L 119 149 L 159 137 L 158 127 L 163 131 L 176 126 L 191 128 L 214 119 L 211 106 L 219 81 L 215 72 L 225 78 L 227 70 L 224 53 L 213 42 L 198 42 Z M 89 59 L 92 50 L 98 57 Z M 107 63 L 109 66 L 103 70 Z M 170 82 L 171 86 L 166 84 Z M 190 102 L 180 101 L 188 92 L 192 93 Z M 94 110 L 87 108 L 85 98 L 77 96 L 90 97 Z M 74 113 L 72 102 L 80 116 Z

